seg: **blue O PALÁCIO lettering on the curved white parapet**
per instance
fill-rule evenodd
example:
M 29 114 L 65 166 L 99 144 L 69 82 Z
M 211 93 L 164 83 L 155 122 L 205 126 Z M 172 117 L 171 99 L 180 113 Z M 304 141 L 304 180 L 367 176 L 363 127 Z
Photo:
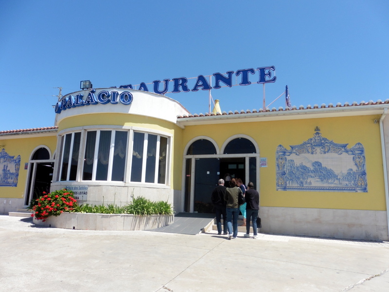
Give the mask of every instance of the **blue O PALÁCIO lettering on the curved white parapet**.
M 83 107 L 89 105 L 97 105 L 97 104 L 118 104 L 119 102 L 124 105 L 129 105 L 132 102 L 132 94 L 128 91 L 118 92 L 115 90 L 106 91 L 102 90 L 95 94 L 96 91 L 91 89 L 88 93 L 87 97 L 84 97 L 83 94 L 78 93 L 75 96 L 65 95 L 61 98 L 60 101 L 55 105 L 55 112 L 60 113 L 62 110 Z

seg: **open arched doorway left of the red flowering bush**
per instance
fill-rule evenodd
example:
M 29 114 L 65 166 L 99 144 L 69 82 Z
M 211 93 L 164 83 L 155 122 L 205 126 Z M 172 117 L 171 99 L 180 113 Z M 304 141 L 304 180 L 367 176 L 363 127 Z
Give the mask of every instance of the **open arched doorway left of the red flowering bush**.
M 29 174 L 26 189 L 25 205 L 41 196 L 42 192 L 50 192 L 53 180 L 54 160 L 50 157 L 46 146 L 35 148 L 28 165 Z

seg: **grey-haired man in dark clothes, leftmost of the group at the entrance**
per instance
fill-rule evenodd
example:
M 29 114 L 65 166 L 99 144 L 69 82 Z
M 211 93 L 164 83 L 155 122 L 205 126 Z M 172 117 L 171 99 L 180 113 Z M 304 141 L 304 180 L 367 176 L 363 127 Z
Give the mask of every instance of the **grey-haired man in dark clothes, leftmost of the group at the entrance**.
M 211 201 L 215 206 L 216 213 L 216 226 L 217 226 L 217 235 L 222 234 L 222 222 L 221 216 L 223 215 L 223 234 L 227 234 L 227 211 L 226 211 L 226 201 L 224 201 L 224 193 L 226 192 L 227 187 L 224 186 L 224 180 L 220 179 L 218 186 L 216 186 L 212 191 Z

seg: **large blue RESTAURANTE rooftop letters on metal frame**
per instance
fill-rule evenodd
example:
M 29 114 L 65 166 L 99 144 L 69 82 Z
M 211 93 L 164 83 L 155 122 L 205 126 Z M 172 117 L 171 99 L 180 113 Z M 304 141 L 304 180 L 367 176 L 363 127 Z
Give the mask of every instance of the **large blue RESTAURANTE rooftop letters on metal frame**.
M 222 73 L 213 73 L 212 75 L 208 75 L 210 79 L 207 80 L 207 78 L 204 75 L 198 75 L 196 82 L 194 85 L 189 86 L 188 83 L 188 78 L 186 77 L 179 77 L 179 78 L 173 78 L 172 80 L 170 79 L 163 79 L 163 90 L 159 89 L 159 84 L 161 83 L 160 80 L 155 80 L 152 83 L 147 83 L 150 86 L 151 91 L 154 93 L 158 94 L 164 94 L 169 91 L 169 82 L 173 83 L 173 90 L 169 91 L 172 93 L 178 93 L 178 92 L 188 92 L 188 91 L 198 91 L 199 89 L 201 90 L 211 90 L 213 89 L 219 89 L 222 86 L 220 83 L 224 83 L 225 86 L 232 87 L 232 75 L 235 76 L 240 76 L 241 80 L 239 84 L 236 85 L 250 85 L 251 82 L 249 81 L 249 75 L 253 75 L 258 71 L 258 81 L 256 83 L 270 83 L 270 82 L 275 82 L 277 77 L 274 76 L 271 78 L 272 71 L 275 71 L 274 66 L 268 66 L 268 67 L 259 67 L 257 69 L 254 68 L 249 68 L 249 69 L 240 69 L 237 70 L 236 72 L 233 71 L 228 71 L 225 75 Z M 212 79 L 211 77 L 213 76 L 213 87 L 212 87 Z M 190 78 L 192 79 L 192 78 Z M 194 78 L 193 78 L 194 79 Z M 141 84 L 134 85 L 128 84 L 128 85 L 122 85 L 120 88 L 125 88 L 125 89 L 137 89 L 137 90 L 142 90 L 142 91 L 150 91 L 146 83 L 142 82 Z M 151 85 L 152 84 L 152 85 Z M 224 86 L 223 86 L 224 87 Z M 192 88 L 192 89 L 190 89 Z

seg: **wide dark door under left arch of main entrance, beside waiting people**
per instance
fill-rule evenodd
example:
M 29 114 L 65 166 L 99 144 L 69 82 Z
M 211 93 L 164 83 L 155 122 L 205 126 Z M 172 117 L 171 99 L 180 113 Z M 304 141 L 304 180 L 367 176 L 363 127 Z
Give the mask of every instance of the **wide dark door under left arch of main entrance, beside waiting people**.
M 219 159 L 195 159 L 195 212 L 213 213 L 211 195 L 219 177 Z

